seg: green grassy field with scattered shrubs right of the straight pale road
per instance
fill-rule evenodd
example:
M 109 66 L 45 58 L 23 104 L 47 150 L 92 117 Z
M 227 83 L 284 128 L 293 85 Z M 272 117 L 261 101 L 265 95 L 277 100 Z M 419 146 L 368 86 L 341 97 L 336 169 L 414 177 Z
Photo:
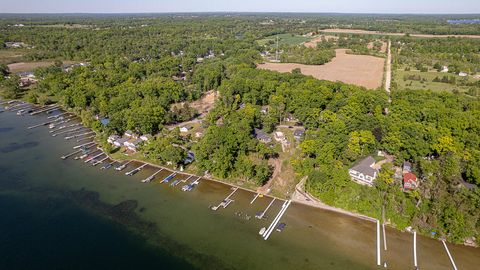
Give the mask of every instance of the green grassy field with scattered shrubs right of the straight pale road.
M 421 79 L 425 79 L 426 81 L 413 81 L 413 80 L 404 80 L 404 76 L 420 76 Z M 442 83 L 442 82 L 433 82 L 435 77 L 442 78 L 443 76 L 448 77 L 455 77 L 456 81 L 459 82 L 461 80 L 467 79 L 469 81 L 475 81 L 476 79 L 469 77 L 460 77 L 455 74 L 451 73 L 441 73 L 436 71 L 429 71 L 429 72 L 420 72 L 420 71 L 404 71 L 404 70 L 394 70 L 393 71 L 393 79 L 395 83 L 397 83 L 398 89 L 421 89 L 421 90 L 432 90 L 432 91 L 453 91 L 458 90 L 459 92 L 467 92 L 470 88 L 469 86 L 457 86 L 450 83 Z

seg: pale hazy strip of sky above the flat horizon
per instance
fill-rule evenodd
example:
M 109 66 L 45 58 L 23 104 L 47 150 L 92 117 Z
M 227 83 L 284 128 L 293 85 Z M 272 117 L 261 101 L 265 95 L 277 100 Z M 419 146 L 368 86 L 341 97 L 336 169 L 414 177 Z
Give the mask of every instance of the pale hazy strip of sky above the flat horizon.
M 0 0 L 0 13 L 480 13 L 480 0 Z

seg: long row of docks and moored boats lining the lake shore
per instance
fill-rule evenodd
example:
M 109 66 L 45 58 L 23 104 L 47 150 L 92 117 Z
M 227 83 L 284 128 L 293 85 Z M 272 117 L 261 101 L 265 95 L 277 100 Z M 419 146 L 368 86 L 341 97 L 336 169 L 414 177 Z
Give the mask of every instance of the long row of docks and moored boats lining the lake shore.
M 67 153 L 61 156 L 61 159 L 66 160 L 70 157 L 74 157 L 75 160 L 82 160 L 84 163 L 91 164 L 92 166 L 103 164 L 103 166 L 101 166 L 100 168 L 102 170 L 107 170 L 111 167 L 114 167 L 116 171 L 123 171 L 130 164 L 132 164 L 132 166 L 134 166 L 133 169 L 125 172 L 125 175 L 127 176 L 135 175 L 138 172 L 140 172 L 142 169 L 144 169 L 146 166 L 150 166 L 153 169 L 155 169 L 155 172 L 150 176 L 146 177 L 145 179 L 141 180 L 142 183 L 150 183 L 156 179 L 159 173 L 167 172 L 168 173 L 167 176 L 161 178 L 159 182 L 161 184 L 169 183 L 170 186 L 172 187 L 175 187 L 181 184 L 182 191 L 193 190 L 202 179 L 201 177 L 198 177 L 195 175 L 178 173 L 175 171 L 158 167 L 156 165 L 142 163 L 139 161 L 130 160 L 122 163 L 122 162 L 111 159 L 101 148 L 98 147 L 97 143 L 94 141 L 95 132 L 84 127 L 78 121 L 79 119 L 74 114 L 69 112 L 62 112 L 60 110 L 60 106 L 50 105 L 50 106 L 39 107 L 39 106 L 31 105 L 26 102 L 16 101 L 16 100 L 0 101 L 0 105 L 4 106 L 5 111 L 16 112 L 17 115 L 25 115 L 25 114 L 36 115 L 40 113 L 51 114 L 50 116 L 47 117 L 47 121 L 37 125 L 30 126 L 28 127 L 28 129 L 48 126 L 48 128 L 50 129 L 49 133 L 51 133 L 51 136 L 63 137 L 65 140 L 74 139 L 76 140 L 77 143 L 80 143 L 73 147 L 73 150 L 74 150 L 73 152 Z M 3 111 L 0 110 L 0 112 L 3 112 Z M 57 112 L 57 113 L 53 114 L 54 112 Z M 138 165 L 138 163 L 140 164 Z M 235 200 L 233 199 L 233 197 L 239 189 L 240 189 L 239 187 L 232 187 L 231 192 L 217 205 L 209 206 L 210 209 L 212 209 L 213 211 L 217 211 L 220 209 L 227 208 L 229 205 L 234 203 Z M 263 195 L 260 193 L 255 193 L 254 197 L 250 201 L 250 204 L 253 204 L 259 197 L 263 197 Z M 265 219 L 267 212 L 272 207 L 274 202 L 277 200 L 281 200 L 281 199 L 271 197 L 271 201 L 268 203 L 266 208 L 262 211 L 257 212 L 255 217 L 260 220 Z M 264 240 L 267 240 L 275 229 L 280 232 L 285 228 L 286 224 L 280 223 L 280 220 L 284 216 L 291 202 L 292 202 L 291 200 L 284 200 L 280 210 L 273 218 L 271 224 L 268 227 L 263 227 L 260 229 L 259 234 Z M 376 224 L 377 266 L 387 268 L 387 262 L 384 261 L 382 264 L 382 259 L 381 259 L 382 239 L 383 239 L 383 253 L 387 252 L 387 238 L 385 233 L 385 224 L 384 223 L 381 224 L 379 220 L 376 220 L 373 218 L 365 218 L 365 219 Z M 413 251 L 413 258 L 414 258 L 413 267 L 414 269 L 419 269 L 418 261 L 417 261 L 417 233 L 416 231 L 412 231 L 412 234 L 413 234 L 412 251 Z M 457 266 L 455 264 L 453 256 L 451 255 L 448 249 L 447 243 L 444 240 L 442 240 L 442 244 L 452 264 L 452 268 L 454 270 L 457 270 Z

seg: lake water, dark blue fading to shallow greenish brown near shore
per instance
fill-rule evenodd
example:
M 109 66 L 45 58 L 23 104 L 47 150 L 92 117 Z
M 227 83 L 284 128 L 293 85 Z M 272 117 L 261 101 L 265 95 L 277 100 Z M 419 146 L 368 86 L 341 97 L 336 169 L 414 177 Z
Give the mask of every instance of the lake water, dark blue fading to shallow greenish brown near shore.
M 168 172 L 141 183 L 156 171 L 148 166 L 128 177 L 124 173 L 138 164 L 118 172 L 62 160 L 80 143 L 52 137 L 47 127 L 27 129 L 45 119 L 0 114 L 0 226 L 7 240 L 1 242 L 8 243 L 0 250 L 7 254 L 0 269 L 377 268 L 372 222 L 292 203 L 281 220 L 285 230 L 265 241 L 258 232 L 270 225 L 283 201 L 258 220 L 255 213 L 272 198 L 250 204 L 254 194 L 238 190 L 228 208 L 212 211 L 209 206 L 220 203 L 229 186 L 201 180 L 193 191 L 182 192 L 182 184 L 160 184 Z M 382 264 L 413 269 L 412 244 L 412 234 L 387 228 Z M 479 249 L 448 247 L 458 269 L 480 265 Z M 418 237 L 417 250 L 420 269 L 452 269 L 441 242 Z M 50 256 L 42 256 L 47 251 Z M 92 260 L 96 263 L 87 263 Z

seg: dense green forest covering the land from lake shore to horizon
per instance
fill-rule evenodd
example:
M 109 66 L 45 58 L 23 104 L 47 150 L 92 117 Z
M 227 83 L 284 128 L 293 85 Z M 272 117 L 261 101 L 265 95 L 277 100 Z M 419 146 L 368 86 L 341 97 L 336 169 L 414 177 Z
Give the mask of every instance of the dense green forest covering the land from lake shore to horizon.
M 24 42 L 33 46 L 25 59 L 55 64 L 36 69 L 40 80 L 28 88 L 21 88 L 19 77 L 0 66 L 2 95 L 40 104 L 58 102 L 81 115 L 99 139 L 128 129 L 158 135 L 142 150 L 153 162 L 179 164 L 191 150 L 196 158 L 192 166 L 199 173 L 254 186 L 270 179 L 273 168 L 268 161 L 280 151 L 274 142 L 259 142 L 255 129 L 270 133 L 293 115 L 306 135 L 299 145 L 301 155 L 290 160 L 296 173 L 292 181 L 308 177 L 309 193 L 329 205 L 376 218 L 385 207 L 386 219 L 401 229 L 413 226 L 459 243 L 480 237 L 478 98 L 394 89 L 389 103 L 383 90 L 255 68 L 264 49 L 257 40 L 304 34 L 332 22 L 382 31 L 462 34 L 478 31 L 478 25 L 447 28 L 441 17 L 428 16 L 388 17 L 392 21 L 382 24 L 375 23 L 379 17 L 272 18 L 274 24 L 263 24 L 265 17 L 254 15 L 6 18 L 0 23 L 0 43 Z M 11 26 L 19 22 L 26 26 Z M 38 27 L 61 23 L 84 27 Z M 405 37 L 398 42 L 403 47 L 394 54 L 396 64 L 419 59 L 433 66 L 434 59 L 478 71 L 476 41 L 462 40 L 463 49 L 454 46 L 457 40 L 448 39 L 437 43 Z M 365 45 L 359 40 L 345 44 Z M 329 45 L 289 50 L 294 59 L 286 61 L 318 64 L 334 56 Z M 65 71 L 62 61 L 67 60 L 88 64 Z M 175 79 L 179 77 L 183 79 Z M 204 135 L 198 141 L 165 128 L 199 113 L 188 106 L 172 110 L 172 104 L 188 104 L 209 90 L 218 90 L 219 98 L 203 120 Z M 262 113 L 265 106 L 268 111 Z M 108 117 L 110 123 L 101 125 L 96 115 Z M 352 182 L 348 169 L 379 150 L 395 158 L 383 165 L 374 187 Z M 403 192 L 394 176 L 393 167 L 404 161 L 414 164 L 420 179 L 417 190 Z

